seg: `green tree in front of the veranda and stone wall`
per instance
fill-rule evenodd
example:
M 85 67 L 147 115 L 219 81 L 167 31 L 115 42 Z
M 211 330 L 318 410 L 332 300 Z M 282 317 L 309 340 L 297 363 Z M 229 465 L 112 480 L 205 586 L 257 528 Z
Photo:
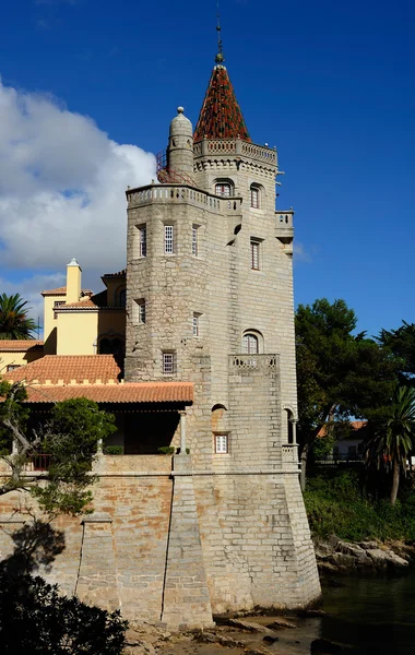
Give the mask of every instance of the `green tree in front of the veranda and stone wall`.
M 0 485 L 0 495 L 26 489 L 50 516 L 85 511 L 92 500 L 92 463 L 98 441 L 116 430 L 114 415 L 100 410 L 93 401 L 73 398 L 57 403 L 37 431 L 28 430 L 24 386 L 0 382 L 0 457 L 11 468 Z M 27 464 L 43 453 L 50 455 L 49 471 L 31 478 Z

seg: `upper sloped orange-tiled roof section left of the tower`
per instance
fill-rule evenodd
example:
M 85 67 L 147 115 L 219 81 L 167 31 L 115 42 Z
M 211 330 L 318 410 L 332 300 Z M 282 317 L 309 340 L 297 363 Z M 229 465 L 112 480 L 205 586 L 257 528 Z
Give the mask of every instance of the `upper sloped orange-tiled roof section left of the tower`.
M 121 369 L 112 355 L 46 355 L 36 361 L 22 366 L 14 371 L 4 374 L 4 380 L 10 382 L 37 380 L 39 384 L 49 380 L 57 384 L 63 380 L 69 384 L 75 380 L 78 384 L 88 380 L 94 383 L 100 380 L 103 384 L 109 380 L 117 382 L 121 376 Z

